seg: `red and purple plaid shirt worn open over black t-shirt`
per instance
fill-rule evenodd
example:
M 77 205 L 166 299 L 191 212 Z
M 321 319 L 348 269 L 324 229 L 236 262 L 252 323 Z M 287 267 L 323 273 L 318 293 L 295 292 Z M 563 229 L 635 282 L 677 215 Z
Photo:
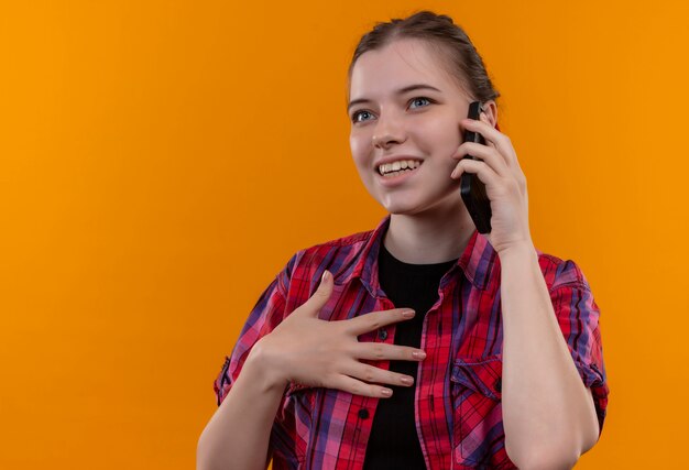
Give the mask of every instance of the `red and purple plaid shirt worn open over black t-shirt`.
M 320 318 L 340 320 L 395 308 L 378 280 L 378 253 L 390 223 L 296 253 L 261 295 L 214 384 L 218 404 L 251 347 L 314 293 L 324 270 L 335 289 Z M 608 403 L 599 308 L 572 261 L 538 253 L 562 335 L 581 379 L 593 392 L 600 427 Z M 440 281 L 424 320 L 427 358 L 416 378 L 416 429 L 428 469 L 513 469 L 502 425 L 500 259 L 474 230 L 457 264 Z M 360 341 L 393 343 L 375 331 Z M 382 339 L 384 338 L 384 339 Z M 389 362 L 376 365 L 386 369 Z M 330 389 L 287 387 L 271 433 L 273 469 L 361 469 L 378 398 Z

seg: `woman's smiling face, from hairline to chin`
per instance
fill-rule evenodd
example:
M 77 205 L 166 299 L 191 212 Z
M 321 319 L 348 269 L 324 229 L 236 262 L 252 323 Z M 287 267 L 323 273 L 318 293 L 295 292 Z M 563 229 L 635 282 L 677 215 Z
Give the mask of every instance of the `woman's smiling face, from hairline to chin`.
M 470 101 L 420 40 L 396 40 L 359 57 L 350 80 L 350 146 L 364 186 L 389 212 L 463 209 L 450 174 Z

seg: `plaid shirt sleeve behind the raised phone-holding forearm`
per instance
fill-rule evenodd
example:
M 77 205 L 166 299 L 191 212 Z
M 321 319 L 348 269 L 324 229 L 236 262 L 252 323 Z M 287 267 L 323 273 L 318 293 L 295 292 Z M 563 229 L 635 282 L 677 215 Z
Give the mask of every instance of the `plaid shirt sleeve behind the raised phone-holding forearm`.
M 591 389 L 600 433 L 610 392 L 603 363 L 600 309 L 586 276 L 575 262 L 566 261 L 559 266 L 550 299 L 575 365 L 586 386 Z

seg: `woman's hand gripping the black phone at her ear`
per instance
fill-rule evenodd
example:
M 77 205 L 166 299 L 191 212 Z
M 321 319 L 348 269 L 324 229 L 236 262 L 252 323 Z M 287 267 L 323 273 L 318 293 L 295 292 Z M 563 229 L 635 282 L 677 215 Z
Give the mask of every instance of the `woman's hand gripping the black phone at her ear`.
M 451 177 L 461 178 L 462 173 L 475 173 L 485 185 L 491 201 L 491 232 L 485 238 L 491 245 L 503 253 L 513 247 L 533 247 L 528 228 L 528 195 L 526 177 L 520 167 L 510 138 L 493 128 L 486 116 L 481 120 L 463 119 L 462 127 L 479 132 L 485 145 L 463 142 L 452 159 L 459 160 Z M 467 154 L 479 160 L 464 159 Z

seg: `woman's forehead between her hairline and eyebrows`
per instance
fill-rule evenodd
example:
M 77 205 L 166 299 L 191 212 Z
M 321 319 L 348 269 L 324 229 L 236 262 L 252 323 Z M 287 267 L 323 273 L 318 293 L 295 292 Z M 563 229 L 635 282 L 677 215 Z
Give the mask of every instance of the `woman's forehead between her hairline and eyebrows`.
M 458 80 L 444 66 L 439 51 L 424 41 L 404 39 L 359 57 L 351 74 L 350 97 L 374 98 L 414 84 L 461 92 Z

